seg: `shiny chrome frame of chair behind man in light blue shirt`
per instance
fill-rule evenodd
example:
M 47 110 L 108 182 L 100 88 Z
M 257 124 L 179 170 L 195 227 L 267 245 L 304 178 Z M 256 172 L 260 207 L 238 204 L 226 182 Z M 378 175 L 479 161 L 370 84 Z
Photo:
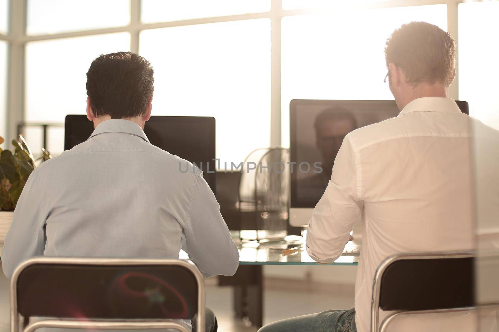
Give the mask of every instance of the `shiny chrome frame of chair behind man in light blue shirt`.
M 190 260 L 184 259 L 128 259 L 128 258 L 67 258 L 67 257 L 35 257 L 19 264 L 10 279 L 10 332 L 18 332 L 19 313 L 17 310 L 17 279 L 20 273 L 28 266 L 35 264 L 76 264 L 76 265 L 177 265 L 192 272 L 198 284 L 198 312 L 197 328 L 199 332 L 205 331 L 205 284 L 204 277 L 198 267 Z M 172 321 L 159 320 L 123 320 L 123 321 L 79 321 L 75 319 L 47 319 L 34 322 L 26 326 L 23 332 L 32 332 L 39 328 L 69 328 L 69 329 L 176 329 L 180 332 L 190 332 L 184 326 Z

